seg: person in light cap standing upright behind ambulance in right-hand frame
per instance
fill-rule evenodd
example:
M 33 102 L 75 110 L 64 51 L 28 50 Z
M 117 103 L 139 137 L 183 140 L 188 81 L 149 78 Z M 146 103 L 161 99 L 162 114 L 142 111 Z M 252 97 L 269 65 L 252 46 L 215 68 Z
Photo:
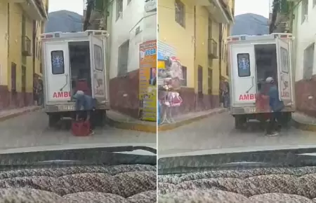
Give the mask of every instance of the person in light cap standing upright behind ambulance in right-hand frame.
M 270 116 L 270 122 L 267 125 L 267 135 L 275 136 L 279 134 L 277 132 L 277 121 L 279 122 L 281 118 L 281 111 L 284 108 L 284 104 L 279 100 L 279 90 L 277 89 L 277 85 L 275 84 L 275 80 L 272 77 L 268 77 L 265 79 L 265 82 L 270 84 L 270 88 L 268 91 L 269 96 L 269 105 L 272 111 Z

